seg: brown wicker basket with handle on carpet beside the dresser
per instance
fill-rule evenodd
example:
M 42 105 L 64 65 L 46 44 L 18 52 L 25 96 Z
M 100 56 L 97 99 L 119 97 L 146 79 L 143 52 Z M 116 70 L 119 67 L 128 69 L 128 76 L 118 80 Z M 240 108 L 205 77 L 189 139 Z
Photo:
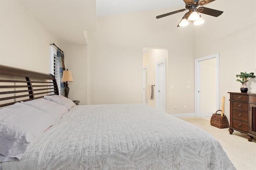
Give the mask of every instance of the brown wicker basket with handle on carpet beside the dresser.
M 221 110 L 218 110 L 221 111 Z M 217 112 L 212 114 L 211 117 L 211 125 L 217 128 L 228 128 L 229 123 L 228 123 L 228 118 L 226 117 L 226 115 L 221 116 L 221 114 L 217 114 Z

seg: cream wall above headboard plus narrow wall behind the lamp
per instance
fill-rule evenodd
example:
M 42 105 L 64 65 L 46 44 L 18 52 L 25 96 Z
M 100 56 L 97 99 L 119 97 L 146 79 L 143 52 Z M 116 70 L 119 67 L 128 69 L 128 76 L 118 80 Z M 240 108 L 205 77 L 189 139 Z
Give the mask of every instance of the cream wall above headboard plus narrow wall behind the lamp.
M 0 64 L 50 73 L 49 45 L 64 51 L 72 71 L 69 98 L 87 104 L 87 46 L 60 44 L 18 0 L 0 1 Z

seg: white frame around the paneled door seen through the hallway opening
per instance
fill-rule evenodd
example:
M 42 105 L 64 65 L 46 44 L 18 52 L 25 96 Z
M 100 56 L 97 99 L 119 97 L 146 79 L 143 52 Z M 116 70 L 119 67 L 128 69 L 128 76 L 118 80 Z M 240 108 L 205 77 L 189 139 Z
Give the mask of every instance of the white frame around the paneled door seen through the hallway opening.
M 159 109 L 159 65 L 164 63 L 164 70 L 165 70 L 165 102 L 164 102 L 164 112 L 166 112 L 166 59 L 156 62 L 156 85 L 155 85 L 155 94 L 156 94 L 156 109 Z

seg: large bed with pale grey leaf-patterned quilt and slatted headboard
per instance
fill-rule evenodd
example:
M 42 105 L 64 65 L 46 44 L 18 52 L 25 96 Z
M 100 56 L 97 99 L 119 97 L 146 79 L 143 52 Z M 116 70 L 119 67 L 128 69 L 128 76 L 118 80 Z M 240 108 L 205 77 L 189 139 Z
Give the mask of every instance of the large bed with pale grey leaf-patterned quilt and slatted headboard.
M 13 105 L 25 107 L 30 103 L 29 107 L 48 114 L 46 104 L 35 106 L 35 101 L 61 105 L 55 100 L 62 97 L 58 97 L 52 75 L 4 65 L 0 65 L 0 73 L 2 109 Z M 37 80 L 32 80 L 34 78 Z M 67 103 L 62 101 L 68 111 L 61 116 L 51 112 L 55 121 L 44 127 L 19 159 L 0 163 L 1 170 L 236 169 L 213 136 L 148 105 L 70 106 Z M 0 147 L 0 154 L 1 149 L 4 148 Z

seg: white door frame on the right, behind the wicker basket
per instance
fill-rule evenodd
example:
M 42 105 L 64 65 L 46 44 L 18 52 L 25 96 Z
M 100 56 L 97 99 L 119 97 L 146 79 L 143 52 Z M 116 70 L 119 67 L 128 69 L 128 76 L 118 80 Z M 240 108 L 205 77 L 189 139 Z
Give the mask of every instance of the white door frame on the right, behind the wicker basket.
M 212 55 L 208 55 L 205 57 L 200 57 L 195 59 L 195 116 L 196 117 L 201 117 L 201 96 L 200 96 L 200 90 L 201 90 L 201 85 L 200 85 L 200 61 L 204 61 L 207 59 L 213 59 L 216 58 L 216 110 L 219 109 L 220 106 L 220 54 L 216 53 L 216 54 L 212 54 Z

